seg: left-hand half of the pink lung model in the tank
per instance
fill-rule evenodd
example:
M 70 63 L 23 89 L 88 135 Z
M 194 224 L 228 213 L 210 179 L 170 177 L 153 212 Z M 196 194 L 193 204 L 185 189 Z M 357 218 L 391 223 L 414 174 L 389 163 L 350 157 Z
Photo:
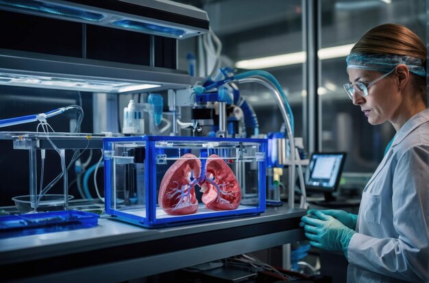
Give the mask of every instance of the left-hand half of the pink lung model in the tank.
M 190 159 L 195 158 L 195 159 Z M 162 177 L 158 204 L 171 215 L 193 214 L 197 212 L 195 184 L 201 174 L 201 161 L 191 153 L 186 153 L 173 163 Z

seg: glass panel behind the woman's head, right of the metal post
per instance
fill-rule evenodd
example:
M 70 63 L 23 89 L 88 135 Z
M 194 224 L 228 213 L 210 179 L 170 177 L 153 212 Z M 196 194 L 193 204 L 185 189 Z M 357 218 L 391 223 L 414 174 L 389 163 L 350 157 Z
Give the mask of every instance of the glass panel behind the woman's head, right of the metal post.
M 348 49 L 338 52 L 338 58 L 321 58 L 319 144 L 322 151 L 347 152 L 345 177 L 354 177 L 353 173 L 361 177 L 365 173 L 371 175 L 382 160 L 395 130 L 390 123 L 370 125 L 360 107 L 353 105 L 343 89 L 343 84 L 349 82 L 345 57 L 365 32 L 382 23 L 405 25 L 426 41 L 426 3 L 423 0 L 320 0 L 319 3 L 319 57 L 321 50 L 328 47 Z M 362 177 L 362 182 L 357 185 L 364 185 L 366 180 Z

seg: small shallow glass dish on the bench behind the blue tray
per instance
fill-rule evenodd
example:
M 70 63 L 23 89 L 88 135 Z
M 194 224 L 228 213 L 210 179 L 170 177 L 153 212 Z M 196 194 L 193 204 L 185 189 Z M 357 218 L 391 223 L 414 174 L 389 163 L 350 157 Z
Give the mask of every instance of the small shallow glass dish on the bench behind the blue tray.
M 73 199 L 73 195 L 69 195 L 69 200 Z M 12 197 L 16 208 L 23 213 L 34 210 L 34 200 L 30 199 L 29 195 L 20 195 Z M 55 211 L 64 210 L 64 195 L 44 195 L 40 197 L 37 211 Z

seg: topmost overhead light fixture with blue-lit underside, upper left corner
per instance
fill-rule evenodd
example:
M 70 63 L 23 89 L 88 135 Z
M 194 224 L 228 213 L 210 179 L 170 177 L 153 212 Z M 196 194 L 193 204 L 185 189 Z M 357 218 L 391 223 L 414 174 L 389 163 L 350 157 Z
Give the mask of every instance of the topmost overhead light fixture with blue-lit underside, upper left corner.
M 0 0 L 0 10 L 177 39 L 209 29 L 204 10 L 173 1 Z

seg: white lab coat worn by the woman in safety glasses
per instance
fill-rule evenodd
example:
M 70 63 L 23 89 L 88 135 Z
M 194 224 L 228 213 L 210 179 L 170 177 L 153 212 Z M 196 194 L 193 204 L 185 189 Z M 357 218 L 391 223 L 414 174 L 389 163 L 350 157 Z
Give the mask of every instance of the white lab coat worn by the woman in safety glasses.
M 347 282 L 429 282 L 429 109 L 409 119 L 363 191 Z

